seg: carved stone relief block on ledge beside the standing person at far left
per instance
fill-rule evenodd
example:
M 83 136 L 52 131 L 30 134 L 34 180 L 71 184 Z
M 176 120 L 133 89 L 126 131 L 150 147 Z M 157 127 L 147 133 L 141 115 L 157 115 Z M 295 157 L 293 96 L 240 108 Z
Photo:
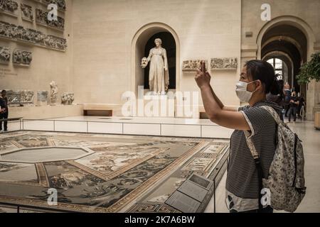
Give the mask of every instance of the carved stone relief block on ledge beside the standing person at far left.
M 10 106 L 32 105 L 34 92 L 30 90 L 7 90 L 6 96 L 9 103 L 11 103 Z

